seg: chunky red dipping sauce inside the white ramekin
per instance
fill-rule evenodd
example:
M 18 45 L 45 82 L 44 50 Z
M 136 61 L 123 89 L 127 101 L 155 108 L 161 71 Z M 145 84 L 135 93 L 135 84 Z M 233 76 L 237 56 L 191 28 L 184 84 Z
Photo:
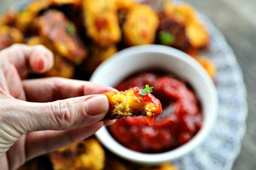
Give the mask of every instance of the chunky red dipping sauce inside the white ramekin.
M 134 74 L 116 86 L 117 90 L 130 87 L 153 86 L 163 113 L 150 126 L 144 117 L 119 119 L 109 127 L 111 135 L 123 146 L 145 153 L 160 153 L 189 141 L 200 130 L 203 122 L 200 102 L 186 82 L 172 75 L 158 72 Z

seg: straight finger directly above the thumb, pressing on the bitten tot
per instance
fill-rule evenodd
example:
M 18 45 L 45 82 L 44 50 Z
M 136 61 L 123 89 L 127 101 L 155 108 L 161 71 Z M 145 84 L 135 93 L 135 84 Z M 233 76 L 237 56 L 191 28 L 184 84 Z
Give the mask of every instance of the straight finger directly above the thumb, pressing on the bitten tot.
M 85 95 L 101 94 L 116 89 L 89 81 L 59 77 L 23 80 L 23 89 L 30 102 L 52 102 Z

